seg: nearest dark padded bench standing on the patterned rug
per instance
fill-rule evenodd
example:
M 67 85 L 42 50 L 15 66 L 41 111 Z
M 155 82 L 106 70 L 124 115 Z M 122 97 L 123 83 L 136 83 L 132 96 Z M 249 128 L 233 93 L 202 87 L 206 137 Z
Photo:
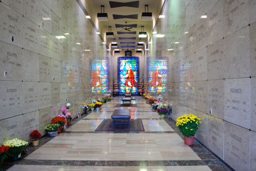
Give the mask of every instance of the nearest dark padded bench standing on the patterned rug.
M 115 124 L 128 124 L 130 130 L 130 109 L 116 109 L 111 115 L 113 119 L 113 130 Z M 128 123 L 117 123 L 115 121 L 128 121 Z

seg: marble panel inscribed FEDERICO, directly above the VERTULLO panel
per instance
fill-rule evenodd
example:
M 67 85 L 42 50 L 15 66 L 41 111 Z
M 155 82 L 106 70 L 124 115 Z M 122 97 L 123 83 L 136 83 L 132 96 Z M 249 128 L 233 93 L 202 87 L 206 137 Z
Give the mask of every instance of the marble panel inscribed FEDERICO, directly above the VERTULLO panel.
M 250 128 L 250 78 L 225 79 L 224 119 L 244 128 Z

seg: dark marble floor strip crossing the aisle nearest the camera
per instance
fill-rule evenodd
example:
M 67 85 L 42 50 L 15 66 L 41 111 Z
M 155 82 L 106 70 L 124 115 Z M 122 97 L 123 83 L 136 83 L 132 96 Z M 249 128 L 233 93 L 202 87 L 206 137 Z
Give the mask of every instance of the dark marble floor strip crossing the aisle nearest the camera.
M 105 161 L 105 160 L 20 160 L 17 165 L 50 166 L 202 166 L 202 160 L 147 160 L 147 161 Z

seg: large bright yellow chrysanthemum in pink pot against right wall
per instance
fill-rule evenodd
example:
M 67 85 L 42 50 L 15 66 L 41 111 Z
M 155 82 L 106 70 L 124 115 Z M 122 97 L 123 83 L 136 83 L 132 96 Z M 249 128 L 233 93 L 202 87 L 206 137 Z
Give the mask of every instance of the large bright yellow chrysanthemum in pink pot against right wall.
M 194 135 L 200 125 L 200 119 L 193 114 L 185 114 L 177 118 L 176 126 L 180 129 L 186 145 L 193 145 Z

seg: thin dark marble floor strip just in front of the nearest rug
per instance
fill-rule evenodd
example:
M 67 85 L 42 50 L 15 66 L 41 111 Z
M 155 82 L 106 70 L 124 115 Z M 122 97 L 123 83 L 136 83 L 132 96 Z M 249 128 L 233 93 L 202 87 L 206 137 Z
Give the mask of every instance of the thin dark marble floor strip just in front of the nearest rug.
M 153 133 L 176 133 L 175 131 L 65 131 L 62 133 L 92 134 L 92 133 L 120 133 L 120 134 L 153 134 Z

